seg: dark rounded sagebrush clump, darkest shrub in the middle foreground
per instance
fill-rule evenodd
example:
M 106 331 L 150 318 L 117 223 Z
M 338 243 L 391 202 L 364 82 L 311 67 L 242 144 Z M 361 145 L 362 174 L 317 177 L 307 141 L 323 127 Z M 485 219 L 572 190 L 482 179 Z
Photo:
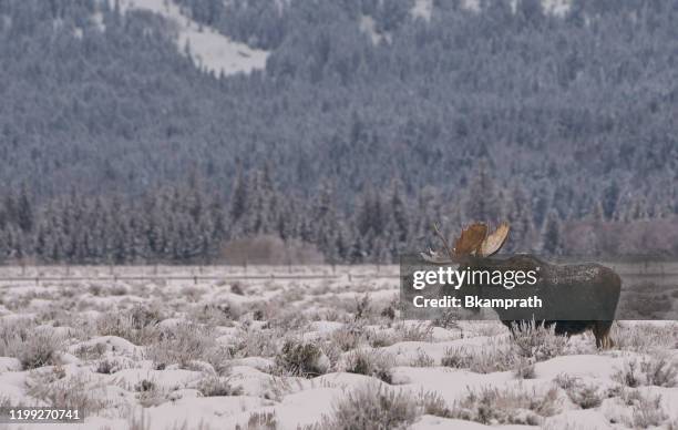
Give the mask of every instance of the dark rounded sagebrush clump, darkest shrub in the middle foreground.
M 276 356 L 276 366 L 285 373 L 302 377 L 316 377 L 329 370 L 329 359 L 315 344 L 288 339 L 280 354 Z

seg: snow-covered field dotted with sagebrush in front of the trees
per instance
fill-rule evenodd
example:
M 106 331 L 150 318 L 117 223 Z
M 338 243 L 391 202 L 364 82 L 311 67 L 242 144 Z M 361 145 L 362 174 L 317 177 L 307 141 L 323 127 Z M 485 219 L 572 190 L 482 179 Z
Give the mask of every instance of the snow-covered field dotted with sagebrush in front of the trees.
M 589 334 L 403 322 L 398 268 L 376 269 L 248 267 L 278 277 L 196 283 L 104 277 L 244 268 L 99 267 L 0 281 L 0 407 L 86 413 L 84 426 L 7 428 L 678 428 L 677 324 L 622 321 L 598 351 Z M 22 273 L 66 275 L 0 276 Z M 280 278 L 319 273 L 339 276 Z

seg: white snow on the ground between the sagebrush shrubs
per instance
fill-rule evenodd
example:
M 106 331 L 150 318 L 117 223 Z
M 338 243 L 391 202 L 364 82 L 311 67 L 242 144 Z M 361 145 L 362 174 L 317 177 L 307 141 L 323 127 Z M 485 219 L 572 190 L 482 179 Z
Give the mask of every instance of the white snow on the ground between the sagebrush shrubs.
M 33 272 L 37 268 L 29 268 Z M 0 268 L 0 274 L 17 272 L 13 267 Z M 63 275 L 60 268 L 42 268 L 45 275 Z M 129 429 L 130 416 L 137 418 L 143 414 L 150 430 L 167 428 L 198 428 L 199 423 L 212 429 L 232 429 L 237 424 L 247 428 L 250 418 L 266 417 L 274 413 L 277 428 L 297 429 L 307 424 L 321 422 L 323 416 L 331 414 L 339 401 L 356 389 L 367 385 L 378 385 L 382 389 L 402 390 L 413 398 L 422 392 L 436 393 L 451 408 L 463 400 L 470 391 L 484 389 L 515 392 L 516 390 L 540 396 L 557 387 L 554 380 L 567 376 L 587 387 L 595 387 L 603 396 L 602 403 L 590 409 L 582 409 L 569 401 L 564 389 L 557 388 L 558 410 L 553 417 L 544 418 L 543 426 L 547 429 L 626 429 L 633 427 L 634 408 L 620 390 L 634 391 L 646 398 L 661 396 L 661 409 L 666 413 L 662 424 L 678 420 L 678 387 L 641 386 L 628 388 L 619 382 L 619 372 L 631 361 L 643 362 L 646 358 L 666 357 L 678 364 L 678 349 L 670 339 L 674 337 L 670 321 L 656 322 L 623 322 L 625 332 L 637 330 L 637 336 L 665 330 L 667 341 L 660 345 L 641 342 L 640 349 L 615 348 L 609 351 L 595 349 L 590 335 L 573 336 L 567 342 L 567 350 L 557 357 L 537 362 L 534 366 L 534 378 L 520 380 L 513 370 L 480 373 L 470 369 L 458 369 L 441 366 L 441 360 L 448 349 L 463 349 L 469 356 L 481 359 L 490 349 L 503 350 L 512 345 L 508 330 L 499 321 L 459 321 L 454 327 L 435 327 L 430 338 L 425 340 L 407 340 L 403 334 L 418 324 L 415 321 L 391 321 L 381 315 L 398 297 L 399 279 L 393 275 L 398 267 L 381 267 L 377 274 L 376 267 L 338 267 L 337 273 L 345 274 L 333 279 L 282 279 L 265 277 L 242 280 L 243 295 L 232 293 L 233 283 L 226 276 L 243 272 L 236 267 L 124 267 L 124 268 L 84 268 L 72 267 L 71 275 L 90 277 L 91 280 L 80 283 L 59 283 L 42 280 L 38 286 L 33 280 L 22 283 L 0 283 L 0 294 L 6 305 L 0 318 L 0 328 L 31 327 L 34 330 L 49 330 L 54 337 L 63 340 L 63 350 L 56 355 L 59 366 L 43 366 L 39 369 L 22 369 L 21 355 L 7 349 L 0 357 L 0 398 L 8 399 L 12 405 L 23 402 L 33 405 L 44 399 L 35 399 L 31 395 L 31 383 L 37 373 L 58 375 L 63 372 L 66 378 L 84 376 L 92 381 L 91 396 L 103 399 L 109 406 L 92 413 L 84 426 L 72 427 L 35 424 L 27 429 L 50 428 L 111 428 L 113 430 Z M 248 267 L 248 274 L 261 275 L 285 274 L 328 274 L 328 267 L 314 269 L 299 267 Z M 351 273 L 350 276 L 347 272 Z M 97 279 L 114 272 L 123 280 L 113 281 Z M 125 276 L 156 272 L 161 276 L 174 276 L 166 281 L 157 280 L 124 280 Z M 178 275 L 195 274 L 215 276 L 215 280 L 195 281 L 177 279 Z M 369 274 L 372 274 L 371 276 Z M 362 275 L 362 276 L 361 276 Z M 96 296 L 92 291 L 92 287 Z M 115 288 L 113 288 L 115 286 Z M 123 288 L 124 287 L 124 288 Z M 366 320 L 356 321 L 357 300 L 364 294 L 370 297 L 369 311 Z M 178 362 L 168 362 L 162 370 L 155 366 L 150 351 L 157 344 L 135 344 L 135 337 L 123 338 L 126 330 L 112 331 L 102 327 L 114 327 L 115 318 L 110 314 L 122 316 L 134 306 L 150 309 L 158 307 L 160 321 L 154 329 L 172 334 L 181 324 L 187 320 L 203 321 L 214 325 L 213 339 L 218 347 L 232 349 L 224 351 L 227 358 L 227 369 L 220 375 L 232 387 L 239 387 L 240 392 L 223 396 L 224 392 L 202 392 L 203 381 L 216 378 L 217 367 L 208 364 L 208 357 L 199 356 L 188 365 L 181 367 Z M 237 305 L 237 306 L 233 306 Z M 217 309 L 234 311 L 235 316 L 222 316 L 218 310 L 213 320 L 201 309 L 205 306 L 218 306 Z M 197 309 L 197 310 L 196 310 Z M 253 320 L 254 310 L 261 310 L 260 320 Z M 307 315 L 308 314 L 308 315 Z M 295 325 L 300 317 L 300 325 Z M 312 319 L 311 319 L 312 317 Z M 107 321 L 100 327 L 97 319 Z M 110 319 L 107 319 L 110 318 Z M 123 321 L 125 319 L 123 318 Z M 372 347 L 362 340 L 355 347 L 335 349 L 338 347 L 337 336 L 347 336 L 342 330 L 347 325 L 362 325 L 369 332 L 393 339 L 393 344 L 384 347 Z M 647 331 L 644 331 L 647 330 Z M 104 336 L 105 335 L 105 336 Z M 158 334 L 160 336 L 160 334 Z M 166 335 L 163 335 L 166 336 Z M 248 336 L 251 336 L 249 338 Z M 399 338 L 399 336 L 401 336 Z M 622 336 L 622 335 L 617 335 Z M 629 336 L 636 337 L 636 336 Z M 280 372 L 275 350 L 257 349 L 259 341 L 274 344 L 280 350 L 286 339 L 307 339 L 314 345 L 328 346 L 323 350 L 322 367 L 328 367 L 328 373 L 302 378 Z M 160 339 L 160 338 L 157 338 Z M 157 342 L 157 339 L 153 340 Z M 403 340 L 405 339 L 405 340 Z M 238 345 L 248 341 L 251 352 L 243 351 Z M 629 340 L 627 339 L 628 344 Z M 645 347 L 660 348 L 660 351 L 646 350 Z M 349 373 L 343 370 L 346 358 L 356 350 L 373 352 L 388 357 L 394 367 L 390 370 L 391 383 L 380 381 L 376 377 Z M 86 352 L 86 354 L 85 354 Z M 428 356 L 429 364 L 421 365 L 418 358 Z M 97 372 L 102 361 L 109 362 L 109 372 Z M 418 367 L 422 366 L 422 367 Z M 63 376 L 61 377 L 63 378 Z M 157 406 L 146 405 L 142 408 L 142 381 L 150 381 L 156 388 Z M 33 381 L 33 382 L 32 382 Z M 147 383 L 147 382 L 146 382 Z M 40 403 L 42 405 L 42 403 Z M 459 405 L 459 403 L 458 403 Z M 516 412 L 520 413 L 520 412 Z M 614 421 L 614 423 L 610 423 Z M 524 422 L 524 421 L 518 421 Z M 499 424 L 485 426 L 458 419 L 446 419 L 424 414 L 412 426 L 413 429 L 536 429 L 536 427 Z

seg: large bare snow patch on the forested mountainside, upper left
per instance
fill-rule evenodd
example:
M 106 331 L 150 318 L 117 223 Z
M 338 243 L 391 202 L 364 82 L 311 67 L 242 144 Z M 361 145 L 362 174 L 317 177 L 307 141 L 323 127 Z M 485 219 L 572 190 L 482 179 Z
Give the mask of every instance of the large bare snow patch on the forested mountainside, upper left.
M 182 14 L 171 0 L 122 0 L 121 9 L 148 10 L 175 22 L 178 29 L 176 45 L 184 52 L 186 45 L 196 65 L 206 71 L 224 74 L 249 73 L 266 66 L 267 51 L 235 42 L 216 30 L 201 25 Z

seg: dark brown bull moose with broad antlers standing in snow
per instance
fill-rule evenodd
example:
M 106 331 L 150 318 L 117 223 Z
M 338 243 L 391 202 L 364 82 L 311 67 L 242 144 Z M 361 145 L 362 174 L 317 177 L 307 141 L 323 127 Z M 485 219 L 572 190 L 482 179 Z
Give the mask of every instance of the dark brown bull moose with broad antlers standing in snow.
M 538 324 L 555 325 L 557 335 L 576 335 L 592 330 L 598 348 L 614 346 L 609 331 L 619 301 L 622 280 L 608 267 L 599 264 L 556 265 L 546 263 L 533 255 L 516 254 L 497 258 L 493 257 L 508 237 L 508 224 L 502 223 L 493 233 L 487 233 L 483 223 L 474 223 L 464 228 L 451 247 L 445 237 L 435 229 L 442 239 L 444 249 L 430 252 L 424 258 L 435 264 L 459 264 L 460 267 L 481 270 L 538 270 L 537 290 L 545 296 L 548 308 L 545 309 Z M 487 291 L 480 286 L 479 290 Z M 503 288 L 494 288 L 493 294 L 511 294 Z M 515 313 L 494 308 L 502 322 L 512 332 L 520 329 L 526 319 L 515 319 Z

